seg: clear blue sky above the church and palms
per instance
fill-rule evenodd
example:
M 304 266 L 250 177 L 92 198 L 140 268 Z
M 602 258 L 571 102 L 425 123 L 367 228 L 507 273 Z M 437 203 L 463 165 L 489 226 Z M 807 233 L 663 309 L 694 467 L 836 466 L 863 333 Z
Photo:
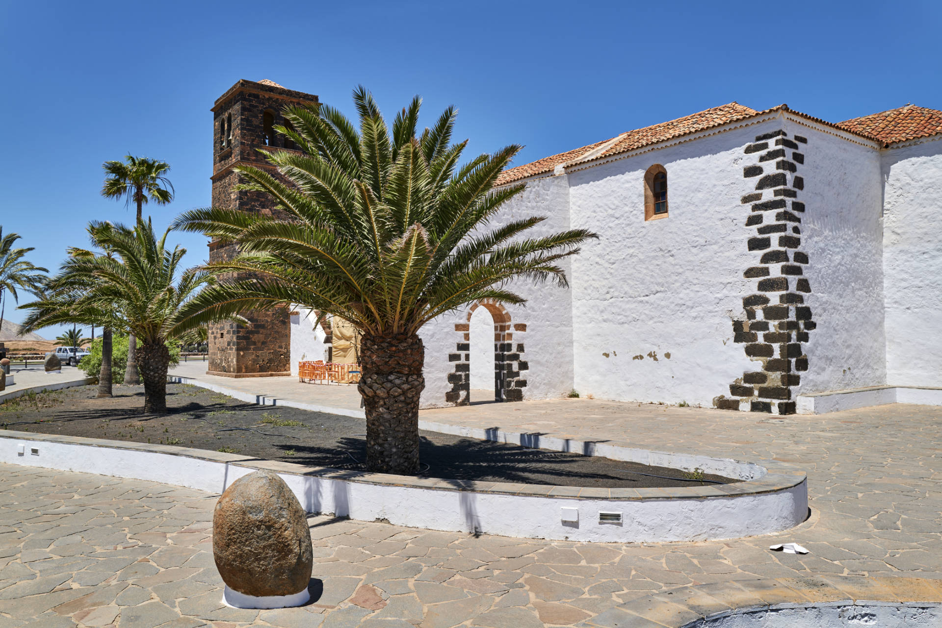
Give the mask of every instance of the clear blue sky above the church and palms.
M 133 220 L 99 195 L 102 162 L 171 164 L 157 225 L 210 201 L 209 107 L 268 78 L 388 116 L 457 105 L 469 150 L 516 163 L 737 101 L 827 121 L 942 108 L 938 2 L 0 2 L 0 225 L 57 268 L 90 219 Z M 179 234 L 189 264 L 205 239 Z M 8 303 L 7 316 L 23 312 Z M 57 330 L 41 332 L 54 337 Z

